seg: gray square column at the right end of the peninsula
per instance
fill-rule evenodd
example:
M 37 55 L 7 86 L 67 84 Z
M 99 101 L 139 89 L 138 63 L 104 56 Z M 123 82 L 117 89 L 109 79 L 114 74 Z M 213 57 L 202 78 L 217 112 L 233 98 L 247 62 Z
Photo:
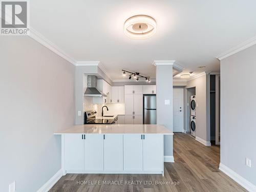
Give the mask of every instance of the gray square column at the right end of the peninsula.
M 165 125 L 173 131 L 173 66 L 156 66 L 157 84 L 157 124 Z M 169 99 L 170 105 L 164 100 Z M 164 136 L 164 155 L 173 156 L 173 136 Z

